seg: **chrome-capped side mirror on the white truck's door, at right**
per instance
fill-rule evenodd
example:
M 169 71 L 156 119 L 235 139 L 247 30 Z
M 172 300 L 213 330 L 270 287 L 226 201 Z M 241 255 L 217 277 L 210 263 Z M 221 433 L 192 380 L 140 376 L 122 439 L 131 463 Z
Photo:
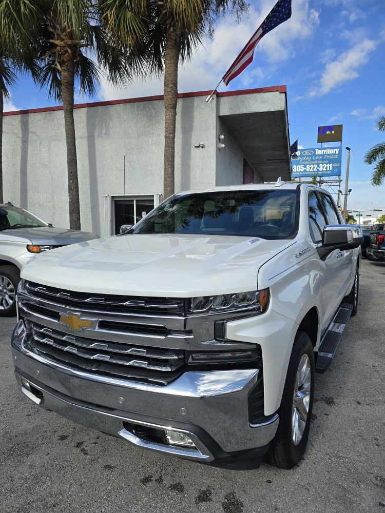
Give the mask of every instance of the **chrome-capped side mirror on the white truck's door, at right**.
M 319 249 L 326 256 L 334 249 L 354 249 L 362 243 L 363 235 L 359 225 L 328 225 L 323 229 L 322 246 Z

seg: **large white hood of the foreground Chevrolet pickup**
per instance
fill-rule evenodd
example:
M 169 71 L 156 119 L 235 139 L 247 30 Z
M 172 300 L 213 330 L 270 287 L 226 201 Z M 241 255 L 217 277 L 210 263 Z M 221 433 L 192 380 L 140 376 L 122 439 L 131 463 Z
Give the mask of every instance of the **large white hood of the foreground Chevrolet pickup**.
M 257 289 L 259 267 L 295 241 L 223 235 L 120 235 L 37 255 L 22 278 L 61 289 L 152 297 Z

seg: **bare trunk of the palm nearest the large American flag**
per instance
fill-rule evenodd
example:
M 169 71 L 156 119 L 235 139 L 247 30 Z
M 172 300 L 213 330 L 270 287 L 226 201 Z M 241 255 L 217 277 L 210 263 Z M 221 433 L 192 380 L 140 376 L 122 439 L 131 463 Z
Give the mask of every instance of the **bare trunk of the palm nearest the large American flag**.
M 167 29 L 164 55 L 164 168 L 163 193 L 175 191 L 175 125 L 178 102 L 178 65 L 181 52 L 180 32 Z

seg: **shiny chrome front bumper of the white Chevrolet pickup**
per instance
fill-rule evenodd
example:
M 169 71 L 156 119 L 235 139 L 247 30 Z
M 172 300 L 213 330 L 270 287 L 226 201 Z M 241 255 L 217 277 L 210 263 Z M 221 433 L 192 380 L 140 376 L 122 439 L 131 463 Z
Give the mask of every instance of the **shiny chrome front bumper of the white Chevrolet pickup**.
M 263 424 L 249 424 L 248 392 L 258 369 L 185 372 L 166 386 L 106 379 L 31 353 L 17 341 L 16 330 L 12 354 L 18 384 L 29 399 L 142 447 L 210 462 L 219 453 L 266 446 L 278 427 L 277 415 Z M 128 424 L 184 431 L 196 449 L 149 443 Z

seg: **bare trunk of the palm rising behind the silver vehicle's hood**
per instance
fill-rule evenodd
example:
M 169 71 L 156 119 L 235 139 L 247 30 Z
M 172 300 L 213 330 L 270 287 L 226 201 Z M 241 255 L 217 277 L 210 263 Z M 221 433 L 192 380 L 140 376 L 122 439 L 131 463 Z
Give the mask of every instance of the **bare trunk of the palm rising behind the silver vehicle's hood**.
M 80 230 L 78 160 L 76 158 L 75 123 L 73 119 L 74 61 L 68 54 L 62 62 L 62 96 L 67 146 L 69 227 Z

